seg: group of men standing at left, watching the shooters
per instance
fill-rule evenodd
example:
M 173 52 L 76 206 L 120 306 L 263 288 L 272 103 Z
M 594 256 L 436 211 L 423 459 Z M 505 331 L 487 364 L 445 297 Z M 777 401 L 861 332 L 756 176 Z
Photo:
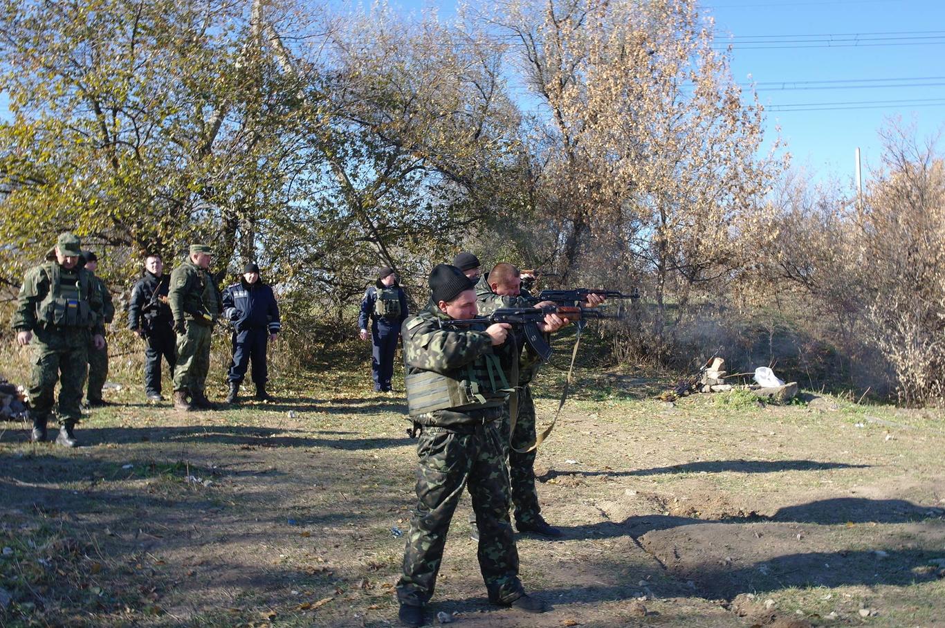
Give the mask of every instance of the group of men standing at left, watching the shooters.
M 211 336 L 221 316 L 233 324 L 227 401 L 236 401 L 250 362 L 256 399 L 272 400 L 266 393 L 266 344 L 281 330 L 272 289 L 260 279 L 259 267 L 249 263 L 241 280 L 221 295 L 209 271 L 212 259 L 210 246 L 191 245 L 187 259 L 168 278 L 161 256 L 149 254 L 144 274 L 131 290 L 129 329 L 146 343 L 147 399 L 163 400 L 163 359 L 173 376 L 178 410 L 215 407 L 205 388 Z M 57 383 L 60 445 L 78 445 L 74 429 L 86 380 L 89 406 L 108 405 L 102 399 L 108 374 L 105 326 L 112 322 L 114 306 L 108 287 L 94 274 L 97 262 L 93 252 L 82 251 L 76 235 L 61 233 L 46 262 L 30 268 L 20 288 L 13 329 L 19 345 L 34 347 L 28 388 L 33 441 L 47 438 Z

